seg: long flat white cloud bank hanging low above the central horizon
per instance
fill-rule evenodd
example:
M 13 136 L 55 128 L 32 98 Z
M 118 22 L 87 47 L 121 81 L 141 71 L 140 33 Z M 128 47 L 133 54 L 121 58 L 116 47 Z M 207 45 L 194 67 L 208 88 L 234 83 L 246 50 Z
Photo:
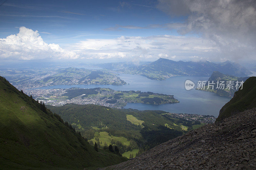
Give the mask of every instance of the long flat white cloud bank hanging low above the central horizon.
M 159 35 L 148 37 L 118 37 L 116 39 L 86 39 L 72 45 L 85 58 L 188 59 L 193 55 L 211 55 L 218 51 L 215 43 L 196 37 Z

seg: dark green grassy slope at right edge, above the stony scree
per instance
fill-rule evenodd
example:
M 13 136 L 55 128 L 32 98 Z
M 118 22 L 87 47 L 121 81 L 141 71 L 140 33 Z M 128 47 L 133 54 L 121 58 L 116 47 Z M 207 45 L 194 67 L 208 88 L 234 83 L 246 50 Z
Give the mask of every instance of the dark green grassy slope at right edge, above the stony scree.
M 253 107 L 256 107 L 256 77 L 250 77 L 244 82 L 243 89 L 235 92 L 234 97 L 220 109 L 216 121 Z

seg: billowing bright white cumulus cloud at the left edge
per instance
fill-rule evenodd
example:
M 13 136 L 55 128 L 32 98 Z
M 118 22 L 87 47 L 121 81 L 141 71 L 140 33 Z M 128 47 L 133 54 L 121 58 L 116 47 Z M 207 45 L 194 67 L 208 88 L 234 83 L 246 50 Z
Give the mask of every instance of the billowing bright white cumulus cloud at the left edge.
M 0 59 L 76 59 L 73 51 L 61 48 L 58 44 L 47 44 L 38 31 L 20 27 L 20 32 L 0 39 Z

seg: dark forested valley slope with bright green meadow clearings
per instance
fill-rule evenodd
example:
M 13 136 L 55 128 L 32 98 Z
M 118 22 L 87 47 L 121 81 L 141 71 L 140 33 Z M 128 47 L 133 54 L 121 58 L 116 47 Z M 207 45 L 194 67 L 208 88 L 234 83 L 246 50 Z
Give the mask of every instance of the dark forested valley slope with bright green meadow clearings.
M 60 107 L 47 105 L 87 138 L 104 147 L 118 146 L 121 154 L 134 153 L 133 157 L 157 144 L 178 137 L 198 122 L 169 118 L 164 111 L 138 111 L 113 109 L 98 105 L 66 104 Z M 199 122 L 200 124 L 200 122 Z M 128 154 L 129 157 L 129 154 Z

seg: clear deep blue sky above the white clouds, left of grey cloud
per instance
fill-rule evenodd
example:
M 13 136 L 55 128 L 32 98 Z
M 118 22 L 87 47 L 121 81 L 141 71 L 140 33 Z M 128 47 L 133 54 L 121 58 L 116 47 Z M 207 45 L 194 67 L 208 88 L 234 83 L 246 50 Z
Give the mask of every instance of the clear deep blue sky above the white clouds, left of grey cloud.
M 157 1 L 14 1 L 0 8 L 1 38 L 17 33 L 17 27 L 38 30 L 47 43 L 65 44 L 85 38 L 172 34 L 164 28 L 126 29 L 184 22 L 156 8 Z

